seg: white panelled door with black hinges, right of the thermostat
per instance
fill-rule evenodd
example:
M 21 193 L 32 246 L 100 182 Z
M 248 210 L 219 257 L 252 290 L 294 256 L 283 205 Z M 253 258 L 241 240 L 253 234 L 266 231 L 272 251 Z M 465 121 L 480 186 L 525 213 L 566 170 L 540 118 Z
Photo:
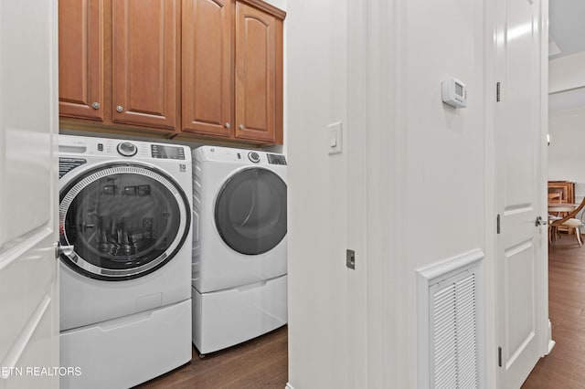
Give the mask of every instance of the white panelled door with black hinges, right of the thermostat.
M 545 0 L 546 1 L 546 0 Z M 546 4 L 546 3 L 545 3 Z M 519 388 L 542 355 L 548 312 L 542 179 L 540 0 L 500 0 L 497 14 L 496 207 L 498 387 Z

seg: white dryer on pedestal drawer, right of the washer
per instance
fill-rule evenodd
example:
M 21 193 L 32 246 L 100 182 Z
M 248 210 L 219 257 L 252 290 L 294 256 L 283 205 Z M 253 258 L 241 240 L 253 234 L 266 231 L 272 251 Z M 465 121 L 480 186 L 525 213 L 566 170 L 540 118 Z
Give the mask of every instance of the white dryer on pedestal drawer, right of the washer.
M 287 321 L 286 160 L 193 152 L 193 342 L 205 354 Z

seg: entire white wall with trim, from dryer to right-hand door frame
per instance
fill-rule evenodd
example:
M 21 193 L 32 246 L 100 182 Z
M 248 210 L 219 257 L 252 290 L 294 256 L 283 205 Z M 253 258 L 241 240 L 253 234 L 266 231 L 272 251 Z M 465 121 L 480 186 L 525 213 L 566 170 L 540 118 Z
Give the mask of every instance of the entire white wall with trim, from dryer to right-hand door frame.
M 492 225 L 484 1 L 287 12 L 289 383 L 416 387 L 415 270 L 484 248 Z M 468 108 L 441 103 L 450 75 L 467 83 Z M 333 121 L 345 123 L 346 150 L 330 157 Z

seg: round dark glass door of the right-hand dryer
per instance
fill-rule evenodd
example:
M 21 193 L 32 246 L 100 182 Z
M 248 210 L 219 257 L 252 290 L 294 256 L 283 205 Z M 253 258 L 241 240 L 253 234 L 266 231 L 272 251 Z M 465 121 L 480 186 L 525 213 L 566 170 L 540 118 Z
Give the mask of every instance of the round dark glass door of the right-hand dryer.
M 239 253 L 271 250 L 286 235 L 286 184 L 263 168 L 235 173 L 219 190 L 215 221 L 223 241 Z

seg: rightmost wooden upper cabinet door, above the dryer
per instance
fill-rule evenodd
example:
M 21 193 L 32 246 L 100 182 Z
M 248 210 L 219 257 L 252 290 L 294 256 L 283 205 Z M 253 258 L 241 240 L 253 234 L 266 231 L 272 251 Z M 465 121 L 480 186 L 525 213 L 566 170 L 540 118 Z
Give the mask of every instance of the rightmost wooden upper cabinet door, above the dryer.
M 275 141 L 274 16 L 236 3 L 236 137 Z

